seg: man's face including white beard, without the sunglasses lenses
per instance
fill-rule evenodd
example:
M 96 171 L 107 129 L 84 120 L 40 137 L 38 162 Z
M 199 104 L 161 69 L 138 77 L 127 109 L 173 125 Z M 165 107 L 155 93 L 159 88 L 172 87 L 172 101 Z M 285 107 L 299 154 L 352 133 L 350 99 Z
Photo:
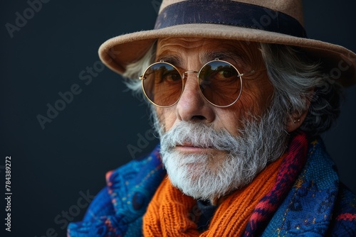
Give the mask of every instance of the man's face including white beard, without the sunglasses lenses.
M 245 154 L 258 153 L 257 150 L 261 150 L 261 147 L 256 147 L 261 143 L 259 138 L 255 139 L 256 144 L 252 147 L 245 144 L 252 139 L 247 138 L 246 133 L 259 132 L 257 124 L 271 107 L 273 100 L 273 87 L 266 75 L 266 68 L 256 43 L 203 38 L 166 38 L 157 43 L 156 61 L 170 62 L 181 73 L 199 71 L 206 62 L 216 57 L 230 62 L 240 73 L 256 70 L 255 73 L 242 77 L 241 97 L 235 104 L 226 108 L 210 104 L 199 92 L 197 75 L 188 73 L 185 75 L 182 97 L 177 104 L 156 109 L 162 133 L 162 160 L 172 184 L 184 193 L 201 199 L 214 199 L 215 194 L 220 197 L 231 189 L 246 184 L 246 180 L 231 184 L 234 180 L 244 179 L 241 174 L 234 176 L 233 173 L 244 172 L 251 162 L 259 159 Z M 246 131 L 246 126 L 251 123 L 256 126 Z M 263 121 L 264 123 L 266 121 Z M 281 125 L 278 123 L 278 126 Z M 179 130 L 174 131 L 174 128 Z M 209 129 L 214 132 L 211 133 Z M 247 141 L 241 140 L 241 137 Z M 235 143 L 236 139 L 240 140 Z M 251 150 L 255 148 L 257 150 Z M 254 168 L 254 172 L 259 172 L 263 165 L 266 165 L 266 160 L 255 165 L 258 167 Z M 233 177 L 225 177 L 224 174 Z M 248 179 L 250 182 L 251 177 Z M 222 187 L 219 183 L 223 181 L 230 184 L 226 183 Z M 203 184 L 204 182 L 206 184 Z M 219 191 L 204 194 L 204 189 L 214 189 L 209 187 L 210 185 L 221 187 L 215 187 Z M 194 190 L 197 189 L 201 191 L 195 193 Z

